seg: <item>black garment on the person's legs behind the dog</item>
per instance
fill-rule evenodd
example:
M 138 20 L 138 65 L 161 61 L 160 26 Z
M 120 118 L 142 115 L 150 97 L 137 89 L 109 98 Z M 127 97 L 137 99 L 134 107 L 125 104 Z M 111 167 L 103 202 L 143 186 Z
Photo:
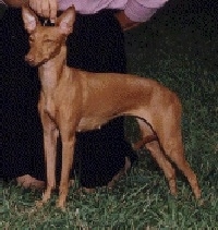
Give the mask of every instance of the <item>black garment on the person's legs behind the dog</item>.
M 21 10 L 7 11 L 2 38 L 3 81 L 8 77 L 3 83 L 4 174 L 17 177 L 28 173 L 43 179 L 43 132 L 36 111 L 40 84 L 37 70 L 24 62 L 28 44 Z M 125 72 L 123 33 L 112 11 L 77 14 L 74 32 L 66 45 L 70 66 L 93 72 Z M 83 186 L 105 185 L 123 167 L 128 155 L 134 159 L 130 145 L 124 141 L 123 118 L 119 118 L 99 131 L 76 134 L 72 173 L 76 172 Z M 59 164 L 58 171 L 60 167 Z

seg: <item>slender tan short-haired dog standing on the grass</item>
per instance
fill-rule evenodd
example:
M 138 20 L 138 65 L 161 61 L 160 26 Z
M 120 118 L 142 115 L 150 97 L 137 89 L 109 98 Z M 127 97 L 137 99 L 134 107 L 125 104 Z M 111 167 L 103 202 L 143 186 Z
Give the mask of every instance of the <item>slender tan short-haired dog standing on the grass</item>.
M 164 170 L 170 192 L 177 193 L 172 160 L 187 178 L 196 198 L 201 190 L 195 173 L 184 158 L 181 135 L 181 102 L 158 82 L 118 73 L 90 73 L 66 66 L 65 39 L 73 31 L 75 10 L 69 8 L 53 27 L 41 26 L 36 14 L 23 7 L 23 21 L 29 34 L 26 61 L 39 66 L 41 81 L 39 113 L 44 126 L 47 189 L 39 205 L 56 187 L 56 144 L 62 141 L 62 171 L 58 207 L 63 208 L 69 191 L 75 132 L 99 129 L 119 116 L 136 117 L 142 141 Z M 95 153 L 94 153 L 95 154 Z

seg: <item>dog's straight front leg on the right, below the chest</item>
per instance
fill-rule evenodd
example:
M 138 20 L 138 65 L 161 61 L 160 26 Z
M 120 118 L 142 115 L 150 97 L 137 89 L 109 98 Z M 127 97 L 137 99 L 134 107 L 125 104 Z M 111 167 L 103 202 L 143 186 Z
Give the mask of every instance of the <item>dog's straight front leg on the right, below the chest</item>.
M 63 209 L 65 206 L 65 199 L 69 192 L 69 178 L 73 164 L 75 133 L 72 135 L 72 132 L 68 131 L 61 132 L 61 140 L 62 140 L 62 170 L 61 170 L 61 181 L 60 181 L 59 199 L 57 202 L 57 207 Z

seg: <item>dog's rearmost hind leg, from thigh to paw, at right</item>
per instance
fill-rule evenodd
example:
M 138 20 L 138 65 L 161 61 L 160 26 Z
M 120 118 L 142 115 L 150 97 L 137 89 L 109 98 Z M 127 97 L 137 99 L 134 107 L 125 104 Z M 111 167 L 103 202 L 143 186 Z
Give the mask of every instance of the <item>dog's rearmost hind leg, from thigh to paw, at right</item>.
M 171 105 L 171 109 L 165 111 L 165 116 L 159 116 L 157 122 L 154 123 L 153 128 L 158 135 L 159 143 L 164 148 L 165 154 L 184 173 L 190 182 L 195 197 L 199 198 L 201 190 L 197 183 L 196 174 L 193 172 L 184 157 L 180 104 L 175 100 L 175 102 Z

